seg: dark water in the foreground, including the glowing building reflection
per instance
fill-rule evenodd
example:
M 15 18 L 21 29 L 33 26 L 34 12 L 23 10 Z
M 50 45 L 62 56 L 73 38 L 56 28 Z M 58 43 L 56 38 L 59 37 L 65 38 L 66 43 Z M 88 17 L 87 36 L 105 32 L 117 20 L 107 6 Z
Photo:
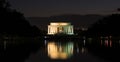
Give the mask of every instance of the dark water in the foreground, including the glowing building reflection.
M 119 40 L 4 40 L 2 47 L 4 62 L 120 61 Z

